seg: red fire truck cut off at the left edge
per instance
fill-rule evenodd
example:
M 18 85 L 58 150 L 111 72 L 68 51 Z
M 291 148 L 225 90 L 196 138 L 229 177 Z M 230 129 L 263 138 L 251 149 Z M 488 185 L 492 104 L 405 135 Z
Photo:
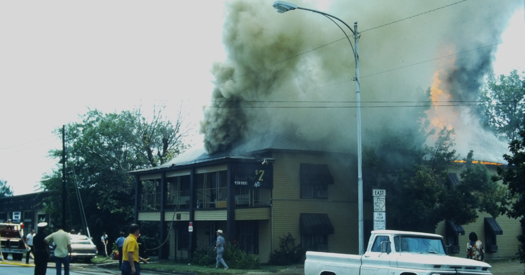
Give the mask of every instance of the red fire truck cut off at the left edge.
M 7 223 L 0 223 L 0 250 L 7 259 L 9 253 L 13 260 L 20 261 L 24 258 L 27 251 L 24 241 L 24 223 L 14 224 L 10 220 Z

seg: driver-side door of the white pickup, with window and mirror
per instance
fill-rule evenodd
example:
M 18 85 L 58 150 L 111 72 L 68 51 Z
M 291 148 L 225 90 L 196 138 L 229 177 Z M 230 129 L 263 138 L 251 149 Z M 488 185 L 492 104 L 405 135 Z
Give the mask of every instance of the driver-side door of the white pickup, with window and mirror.
M 387 275 L 390 268 L 390 260 L 392 257 L 391 244 L 388 243 L 388 250 L 390 253 L 381 253 L 381 242 L 390 242 L 388 236 L 375 236 L 370 251 L 366 251 L 363 255 L 361 265 L 361 275 Z

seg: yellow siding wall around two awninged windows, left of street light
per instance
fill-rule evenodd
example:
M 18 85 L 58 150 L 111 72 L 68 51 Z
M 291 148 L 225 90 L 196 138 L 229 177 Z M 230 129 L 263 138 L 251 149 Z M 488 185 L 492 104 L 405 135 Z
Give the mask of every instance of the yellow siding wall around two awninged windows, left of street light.
M 274 249 L 279 248 L 279 237 L 288 235 L 301 242 L 300 213 L 328 214 L 334 234 L 328 235 L 329 252 L 358 253 L 358 205 L 356 169 L 348 157 L 323 154 L 275 153 L 273 206 Z M 301 199 L 299 166 L 301 163 L 327 164 L 334 178 L 328 186 L 328 199 Z M 371 204 L 371 203 L 369 203 Z M 366 209 L 370 212 L 370 207 Z M 369 214 L 370 216 L 372 214 Z M 371 217 L 370 217 L 371 219 Z M 259 245 L 260 251 L 264 244 Z M 265 248 L 268 249 L 268 248 Z M 264 255 L 261 254 L 261 257 Z

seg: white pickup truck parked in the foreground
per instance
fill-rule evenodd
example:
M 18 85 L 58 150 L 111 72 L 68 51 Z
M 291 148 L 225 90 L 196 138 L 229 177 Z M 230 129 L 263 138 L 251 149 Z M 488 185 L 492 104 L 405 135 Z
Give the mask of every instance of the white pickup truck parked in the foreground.
M 443 237 L 375 230 L 363 256 L 306 252 L 305 275 L 491 275 L 488 263 L 445 255 Z

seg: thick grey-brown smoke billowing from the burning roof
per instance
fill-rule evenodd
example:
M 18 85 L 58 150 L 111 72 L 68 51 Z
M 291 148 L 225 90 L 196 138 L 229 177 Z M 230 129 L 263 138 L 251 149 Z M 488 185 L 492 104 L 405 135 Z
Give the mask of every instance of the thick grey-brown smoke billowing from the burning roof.
M 349 25 L 359 23 L 363 142 L 376 138 L 366 136 L 367 130 L 403 128 L 421 112 L 421 107 L 376 108 L 396 104 L 369 101 L 428 100 L 424 90 L 432 84 L 435 71 L 443 69 L 438 68 L 438 62 L 407 65 L 445 56 L 450 48 L 455 53 L 494 44 L 507 18 L 522 4 L 518 0 L 466 1 L 374 28 L 455 2 L 296 2 L 337 16 Z M 332 149 L 355 150 L 355 104 L 346 103 L 355 101 L 355 83 L 350 81 L 355 64 L 348 40 L 316 49 L 343 38 L 341 30 L 320 14 L 304 10 L 278 14 L 272 3 L 227 4 L 223 32 L 227 59 L 216 62 L 211 70 L 220 84 L 216 84 L 201 121 L 205 149 L 209 153 L 225 151 L 251 136 L 285 133 L 324 140 Z M 486 47 L 458 55 L 454 66 L 445 68 L 448 78 L 444 81 L 454 99 L 476 98 L 492 68 L 496 49 Z M 404 68 L 396 69 L 400 67 Z M 388 72 L 375 74 L 382 71 Z M 469 134 L 455 130 L 458 135 Z M 465 148 L 468 150 L 478 153 L 476 148 Z

